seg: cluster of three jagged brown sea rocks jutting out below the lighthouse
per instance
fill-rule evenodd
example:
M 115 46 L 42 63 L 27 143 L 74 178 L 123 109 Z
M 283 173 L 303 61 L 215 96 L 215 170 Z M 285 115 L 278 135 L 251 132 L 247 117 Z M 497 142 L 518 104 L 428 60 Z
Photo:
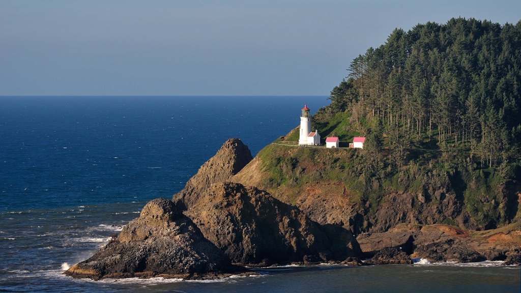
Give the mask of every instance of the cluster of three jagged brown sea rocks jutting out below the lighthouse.
M 223 182 L 251 161 L 230 139 L 173 196 L 148 202 L 139 218 L 66 275 L 79 278 L 210 278 L 239 265 L 352 261 L 361 250 L 350 230 L 320 225 L 266 191 Z M 231 261 L 230 261 L 231 260 Z

